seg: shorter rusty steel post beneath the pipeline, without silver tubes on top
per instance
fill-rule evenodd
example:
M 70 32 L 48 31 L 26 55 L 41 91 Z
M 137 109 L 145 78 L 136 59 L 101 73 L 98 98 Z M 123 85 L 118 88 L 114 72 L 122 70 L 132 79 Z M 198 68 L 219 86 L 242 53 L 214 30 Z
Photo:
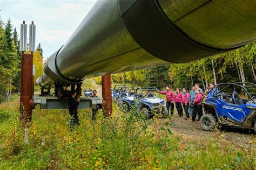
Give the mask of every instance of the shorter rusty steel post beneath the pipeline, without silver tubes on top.
M 105 116 L 109 117 L 112 114 L 111 74 L 102 76 L 102 97 Z

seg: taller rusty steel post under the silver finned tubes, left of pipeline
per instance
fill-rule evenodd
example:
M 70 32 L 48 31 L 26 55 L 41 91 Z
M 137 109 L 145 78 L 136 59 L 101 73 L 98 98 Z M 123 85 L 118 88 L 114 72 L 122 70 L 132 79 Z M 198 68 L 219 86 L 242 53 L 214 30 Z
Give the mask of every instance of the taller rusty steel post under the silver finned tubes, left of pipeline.
M 31 122 L 32 119 L 32 107 L 31 100 L 33 95 L 33 55 L 22 54 L 22 70 L 21 70 L 21 100 L 19 111 L 21 113 L 21 120 L 25 125 Z

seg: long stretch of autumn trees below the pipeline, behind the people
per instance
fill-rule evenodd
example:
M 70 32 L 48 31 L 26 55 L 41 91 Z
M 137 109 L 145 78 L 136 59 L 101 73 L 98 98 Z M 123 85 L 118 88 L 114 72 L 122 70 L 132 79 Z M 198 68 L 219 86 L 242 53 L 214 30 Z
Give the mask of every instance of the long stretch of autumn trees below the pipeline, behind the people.
M 188 63 L 171 63 L 170 65 L 150 69 L 134 70 L 112 75 L 113 83 L 131 83 L 134 86 L 163 88 L 186 87 L 200 83 L 202 88 L 210 82 L 252 82 L 256 83 L 256 43 L 251 42 L 230 52 L 209 56 Z M 100 78 L 96 79 L 100 82 Z

